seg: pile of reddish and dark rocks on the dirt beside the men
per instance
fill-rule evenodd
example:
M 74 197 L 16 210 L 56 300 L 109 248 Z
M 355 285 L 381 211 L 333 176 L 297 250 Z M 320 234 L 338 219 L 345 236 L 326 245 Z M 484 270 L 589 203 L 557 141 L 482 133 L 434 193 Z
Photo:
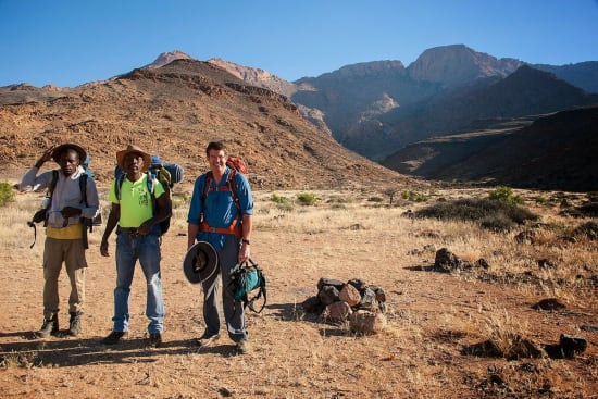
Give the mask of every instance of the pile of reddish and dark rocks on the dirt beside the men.
M 317 295 L 302 303 L 308 313 L 317 313 L 332 323 L 349 322 L 351 332 L 374 334 L 386 327 L 386 294 L 360 278 L 347 283 L 320 278 Z

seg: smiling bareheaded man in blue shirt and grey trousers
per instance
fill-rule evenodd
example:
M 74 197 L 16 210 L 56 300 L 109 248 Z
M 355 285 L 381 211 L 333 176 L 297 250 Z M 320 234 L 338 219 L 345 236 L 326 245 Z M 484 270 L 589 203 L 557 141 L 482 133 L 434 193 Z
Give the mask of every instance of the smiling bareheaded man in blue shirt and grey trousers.
M 250 255 L 253 198 L 245 175 L 226 165 L 224 144 L 210 142 L 205 149 L 210 172 L 199 176 L 187 217 L 187 247 L 196 240 L 210 242 L 217 252 L 219 273 L 201 282 L 203 289 L 203 320 L 205 332 L 199 338 L 200 347 L 220 338 L 219 280 L 222 278 L 223 311 L 229 338 L 238 353 L 247 353 L 249 345 L 241 301 L 228 289 L 231 271 Z

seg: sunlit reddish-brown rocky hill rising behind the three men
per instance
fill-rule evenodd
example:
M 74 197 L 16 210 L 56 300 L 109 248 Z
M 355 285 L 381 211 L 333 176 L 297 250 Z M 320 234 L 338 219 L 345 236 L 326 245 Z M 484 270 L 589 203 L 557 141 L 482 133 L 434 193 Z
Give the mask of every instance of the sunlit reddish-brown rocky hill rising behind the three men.
M 246 160 L 257 189 L 415 184 L 340 146 L 286 97 L 189 59 L 0 107 L 5 177 L 20 177 L 45 148 L 68 140 L 88 148 L 100 184 L 110 182 L 115 152 L 129 142 L 180 163 L 190 184 L 208 169 L 210 140 L 226 141 Z

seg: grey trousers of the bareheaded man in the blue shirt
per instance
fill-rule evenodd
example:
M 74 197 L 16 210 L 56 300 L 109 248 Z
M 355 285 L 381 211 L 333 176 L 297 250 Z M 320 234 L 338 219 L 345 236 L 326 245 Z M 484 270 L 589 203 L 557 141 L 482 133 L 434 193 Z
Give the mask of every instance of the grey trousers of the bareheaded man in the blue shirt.
M 221 315 L 219 312 L 219 290 L 222 288 L 222 310 L 224 321 L 228 331 L 228 337 L 235 342 L 247 339 L 245 328 L 245 311 L 241 301 L 233 298 L 228 288 L 231 271 L 238 263 L 239 238 L 227 235 L 224 247 L 219 254 L 219 272 L 201 284 L 203 288 L 203 321 L 205 322 L 205 334 L 214 335 L 220 333 Z M 220 282 L 222 280 L 222 287 Z

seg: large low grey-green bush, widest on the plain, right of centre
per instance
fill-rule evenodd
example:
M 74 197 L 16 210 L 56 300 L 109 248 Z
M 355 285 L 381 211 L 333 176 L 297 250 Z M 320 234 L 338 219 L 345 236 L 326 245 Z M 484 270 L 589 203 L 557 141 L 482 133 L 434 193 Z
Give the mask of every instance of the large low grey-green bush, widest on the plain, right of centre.
M 438 220 L 471 221 L 493 230 L 510 230 L 526 221 L 539 217 L 528 210 L 512 203 L 490 199 L 460 199 L 451 202 L 438 202 L 415 212 L 418 217 Z

